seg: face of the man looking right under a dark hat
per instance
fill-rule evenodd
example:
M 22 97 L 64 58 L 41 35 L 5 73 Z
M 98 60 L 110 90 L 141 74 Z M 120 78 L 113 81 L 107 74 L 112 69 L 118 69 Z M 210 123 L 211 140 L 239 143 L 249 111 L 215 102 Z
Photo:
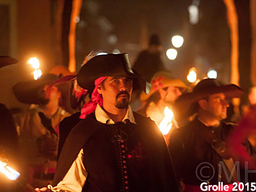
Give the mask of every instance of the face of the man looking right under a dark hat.
M 227 118 L 228 102 L 225 100 L 224 93 L 210 95 L 205 104 L 205 113 L 216 120 Z

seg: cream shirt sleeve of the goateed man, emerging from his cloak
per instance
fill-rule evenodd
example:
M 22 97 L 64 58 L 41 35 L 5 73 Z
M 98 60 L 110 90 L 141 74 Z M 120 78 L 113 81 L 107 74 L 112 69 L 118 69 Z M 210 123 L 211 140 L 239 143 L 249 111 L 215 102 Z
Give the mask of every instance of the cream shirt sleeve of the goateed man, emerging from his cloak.
M 79 192 L 82 191 L 88 172 L 83 164 L 83 148 L 80 150 L 76 160 L 70 166 L 67 174 L 57 186 L 48 186 L 54 192 Z

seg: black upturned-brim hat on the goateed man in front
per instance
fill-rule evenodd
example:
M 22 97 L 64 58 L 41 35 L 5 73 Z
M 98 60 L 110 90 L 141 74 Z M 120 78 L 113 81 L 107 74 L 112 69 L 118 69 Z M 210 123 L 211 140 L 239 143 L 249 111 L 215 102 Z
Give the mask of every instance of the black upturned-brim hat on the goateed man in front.
M 92 93 L 94 81 L 99 77 L 133 77 L 133 90 L 147 92 L 147 83 L 131 67 L 128 54 L 104 54 L 90 59 L 77 74 L 77 83 Z

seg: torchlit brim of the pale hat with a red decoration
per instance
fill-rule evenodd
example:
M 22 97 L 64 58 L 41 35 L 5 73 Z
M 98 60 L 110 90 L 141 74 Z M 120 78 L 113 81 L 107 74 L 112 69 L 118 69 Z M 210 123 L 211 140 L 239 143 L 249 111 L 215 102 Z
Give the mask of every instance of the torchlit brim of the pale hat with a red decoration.
M 148 100 L 160 88 L 166 88 L 168 86 L 175 86 L 175 87 L 178 87 L 178 88 L 188 88 L 188 86 L 183 81 L 181 81 L 180 79 L 163 79 L 161 81 L 161 83 L 163 84 L 163 86 L 156 86 L 156 88 L 152 84 L 148 94 L 142 92 L 140 94 L 140 100 L 141 101 Z

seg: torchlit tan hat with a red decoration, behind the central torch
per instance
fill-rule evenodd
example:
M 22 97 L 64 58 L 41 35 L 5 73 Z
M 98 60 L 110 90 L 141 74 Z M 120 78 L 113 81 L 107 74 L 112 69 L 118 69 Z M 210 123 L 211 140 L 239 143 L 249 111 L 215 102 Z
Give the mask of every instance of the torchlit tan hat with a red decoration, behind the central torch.
M 151 88 L 148 94 L 141 93 L 140 100 L 148 100 L 154 93 L 156 93 L 161 88 L 166 88 L 168 86 L 175 86 L 179 88 L 188 88 L 188 86 L 180 79 L 174 78 L 172 73 L 159 71 L 154 74 L 151 79 Z

